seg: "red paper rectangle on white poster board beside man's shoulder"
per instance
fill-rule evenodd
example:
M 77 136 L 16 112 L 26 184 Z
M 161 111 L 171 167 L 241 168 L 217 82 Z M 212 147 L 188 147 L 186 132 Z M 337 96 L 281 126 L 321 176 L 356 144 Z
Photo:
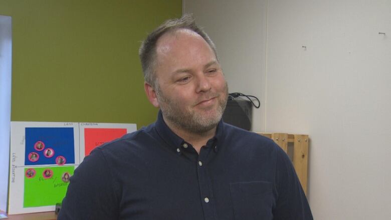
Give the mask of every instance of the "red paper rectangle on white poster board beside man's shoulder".
M 84 128 L 85 155 L 97 146 L 126 134 L 126 128 Z

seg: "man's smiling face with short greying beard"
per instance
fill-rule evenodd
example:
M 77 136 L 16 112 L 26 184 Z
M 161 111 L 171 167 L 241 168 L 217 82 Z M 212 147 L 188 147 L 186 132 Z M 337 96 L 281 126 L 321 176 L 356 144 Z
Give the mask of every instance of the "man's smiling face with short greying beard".
M 215 54 L 198 34 L 180 29 L 157 42 L 157 101 L 164 120 L 203 133 L 220 121 L 228 87 Z

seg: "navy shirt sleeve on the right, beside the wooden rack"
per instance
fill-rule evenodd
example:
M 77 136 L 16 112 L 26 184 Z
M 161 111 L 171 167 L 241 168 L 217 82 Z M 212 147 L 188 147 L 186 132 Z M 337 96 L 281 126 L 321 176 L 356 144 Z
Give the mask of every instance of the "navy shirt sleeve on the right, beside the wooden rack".
M 273 209 L 275 220 L 313 219 L 307 197 L 288 155 L 277 146 L 276 188 L 278 198 Z

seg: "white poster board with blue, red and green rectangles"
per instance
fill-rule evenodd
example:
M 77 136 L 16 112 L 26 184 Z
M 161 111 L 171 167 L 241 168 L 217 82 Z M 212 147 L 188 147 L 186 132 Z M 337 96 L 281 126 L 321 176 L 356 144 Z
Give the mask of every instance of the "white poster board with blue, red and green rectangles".
M 135 130 L 136 124 L 11 122 L 9 214 L 54 211 L 84 157 Z

